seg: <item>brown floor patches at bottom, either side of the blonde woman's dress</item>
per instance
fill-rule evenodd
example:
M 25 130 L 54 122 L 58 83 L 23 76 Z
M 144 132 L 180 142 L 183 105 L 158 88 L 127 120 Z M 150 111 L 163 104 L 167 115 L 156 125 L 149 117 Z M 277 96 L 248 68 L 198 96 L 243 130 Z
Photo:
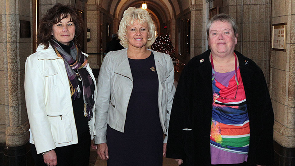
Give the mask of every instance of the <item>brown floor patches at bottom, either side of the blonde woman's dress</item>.
M 100 157 L 96 154 L 96 151 L 91 149 L 89 166 L 107 166 L 107 161 L 101 160 Z M 163 166 L 178 166 L 178 164 L 174 159 L 163 157 Z

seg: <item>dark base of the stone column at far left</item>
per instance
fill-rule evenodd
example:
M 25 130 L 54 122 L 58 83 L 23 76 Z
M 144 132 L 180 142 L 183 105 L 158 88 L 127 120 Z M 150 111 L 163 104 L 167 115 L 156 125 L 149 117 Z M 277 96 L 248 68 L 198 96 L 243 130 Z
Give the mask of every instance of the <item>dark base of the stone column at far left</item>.
M 0 165 L 6 166 L 32 166 L 34 160 L 30 152 L 30 143 L 22 146 L 10 147 L 0 144 Z

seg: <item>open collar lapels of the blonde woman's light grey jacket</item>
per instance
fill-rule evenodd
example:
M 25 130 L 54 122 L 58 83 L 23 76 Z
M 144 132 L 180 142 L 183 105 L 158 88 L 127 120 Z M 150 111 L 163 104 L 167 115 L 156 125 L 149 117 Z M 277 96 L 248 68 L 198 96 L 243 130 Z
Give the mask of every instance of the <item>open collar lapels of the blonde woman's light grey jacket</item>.
M 128 56 L 127 56 L 127 49 L 128 48 L 122 50 L 123 55 L 120 55 L 118 59 L 118 61 L 121 61 L 122 63 L 120 63 L 118 67 L 115 69 L 115 73 L 128 77 L 133 81 L 132 73 L 131 73 L 131 69 L 130 69 L 130 65 L 128 61 Z M 148 50 L 154 54 L 155 68 L 157 70 L 158 78 L 159 78 L 159 81 L 163 83 L 169 76 L 169 73 L 167 72 L 166 67 L 163 66 L 164 64 L 166 64 L 163 62 L 164 58 L 161 57 L 163 56 L 163 54 L 155 52 L 151 49 L 148 49 Z

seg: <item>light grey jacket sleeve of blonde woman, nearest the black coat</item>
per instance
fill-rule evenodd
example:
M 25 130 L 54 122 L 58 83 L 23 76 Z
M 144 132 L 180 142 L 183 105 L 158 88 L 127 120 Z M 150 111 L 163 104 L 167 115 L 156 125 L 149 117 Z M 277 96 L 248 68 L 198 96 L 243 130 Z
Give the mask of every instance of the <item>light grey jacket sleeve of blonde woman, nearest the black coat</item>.
M 167 113 L 166 113 L 166 130 L 168 136 L 168 128 L 169 128 L 169 120 L 171 115 L 171 108 L 173 103 L 173 97 L 175 94 L 175 86 L 174 86 L 174 65 L 171 57 L 166 55 L 167 58 L 167 70 L 169 72 L 169 76 L 167 78 L 168 84 L 168 100 L 167 100 Z M 164 143 L 167 143 L 167 136 L 164 138 Z

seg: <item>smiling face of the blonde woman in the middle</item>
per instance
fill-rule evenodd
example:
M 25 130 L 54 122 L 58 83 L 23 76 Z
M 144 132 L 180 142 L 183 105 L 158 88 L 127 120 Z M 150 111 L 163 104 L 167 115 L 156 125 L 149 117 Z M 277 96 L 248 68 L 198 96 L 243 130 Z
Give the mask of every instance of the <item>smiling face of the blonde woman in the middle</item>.
M 127 26 L 128 48 L 144 48 L 148 42 L 148 23 L 140 25 L 135 21 L 133 25 Z

